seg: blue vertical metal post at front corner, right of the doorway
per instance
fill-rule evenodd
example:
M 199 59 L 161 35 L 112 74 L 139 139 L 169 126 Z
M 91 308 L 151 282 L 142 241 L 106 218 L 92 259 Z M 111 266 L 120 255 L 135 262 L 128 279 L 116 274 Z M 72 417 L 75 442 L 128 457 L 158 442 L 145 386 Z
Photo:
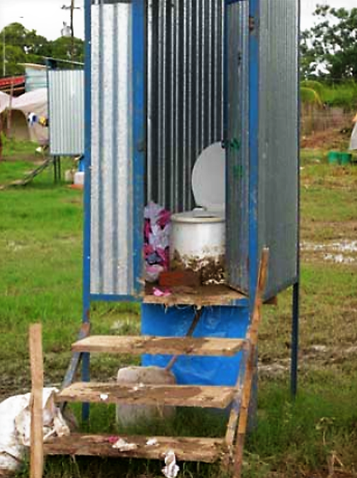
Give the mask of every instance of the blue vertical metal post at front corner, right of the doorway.
M 249 1 L 249 304 L 254 307 L 258 277 L 259 186 L 259 13 L 260 0 Z

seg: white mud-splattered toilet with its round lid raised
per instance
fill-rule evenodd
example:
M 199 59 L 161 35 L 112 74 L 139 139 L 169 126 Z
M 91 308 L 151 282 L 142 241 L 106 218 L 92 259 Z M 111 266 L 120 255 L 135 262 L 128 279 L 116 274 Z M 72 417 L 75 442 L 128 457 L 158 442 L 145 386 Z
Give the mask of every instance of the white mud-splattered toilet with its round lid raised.
M 225 150 L 203 150 L 193 166 L 196 207 L 171 217 L 170 268 L 199 271 L 204 284 L 224 281 Z

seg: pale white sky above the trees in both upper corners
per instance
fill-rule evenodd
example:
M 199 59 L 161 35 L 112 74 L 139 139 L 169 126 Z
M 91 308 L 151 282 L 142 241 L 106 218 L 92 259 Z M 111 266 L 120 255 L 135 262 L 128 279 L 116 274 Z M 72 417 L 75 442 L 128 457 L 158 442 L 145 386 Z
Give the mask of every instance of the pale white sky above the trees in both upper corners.
M 194 0 L 193 0 L 194 1 Z M 295 0 L 274 0 L 295 1 Z M 310 28 L 314 24 L 312 12 L 315 5 L 329 4 L 334 7 L 353 8 L 357 0 L 301 0 L 301 28 Z M 69 24 L 70 0 L 0 0 L 0 30 L 8 23 L 22 23 L 28 30 L 37 30 L 48 40 L 60 37 L 63 22 Z M 83 7 L 84 0 L 75 0 L 75 6 Z M 84 38 L 83 8 L 74 11 L 74 35 Z

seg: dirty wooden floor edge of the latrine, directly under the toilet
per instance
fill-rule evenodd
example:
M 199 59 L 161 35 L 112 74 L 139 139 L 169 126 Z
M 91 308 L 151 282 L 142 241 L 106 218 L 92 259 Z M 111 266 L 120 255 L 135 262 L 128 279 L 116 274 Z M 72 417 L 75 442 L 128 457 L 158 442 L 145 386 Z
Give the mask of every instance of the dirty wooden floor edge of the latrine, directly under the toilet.
M 210 305 L 232 305 L 239 300 L 247 299 L 246 295 L 229 288 L 227 285 L 201 285 L 200 287 L 172 288 L 171 295 L 157 297 L 153 294 L 153 286 L 147 285 L 143 302 L 145 304 L 172 305 L 197 305 L 205 307 Z

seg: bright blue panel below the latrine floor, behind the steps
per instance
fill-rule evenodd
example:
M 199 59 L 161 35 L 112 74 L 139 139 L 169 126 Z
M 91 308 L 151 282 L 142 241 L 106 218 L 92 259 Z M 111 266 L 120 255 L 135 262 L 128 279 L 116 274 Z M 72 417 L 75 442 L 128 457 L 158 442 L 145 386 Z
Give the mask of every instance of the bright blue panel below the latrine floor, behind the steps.
M 191 306 L 142 305 L 142 334 L 185 336 L 195 315 Z M 195 337 L 243 338 L 249 324 L 248 308 L 205 307 Z M 235 357 L 179 357 L 173 372 L 179 384 L 227 385 L 237 382 L 242 353 Z M 169 355 L 144 355 L 143 365 L 165 367 Z

